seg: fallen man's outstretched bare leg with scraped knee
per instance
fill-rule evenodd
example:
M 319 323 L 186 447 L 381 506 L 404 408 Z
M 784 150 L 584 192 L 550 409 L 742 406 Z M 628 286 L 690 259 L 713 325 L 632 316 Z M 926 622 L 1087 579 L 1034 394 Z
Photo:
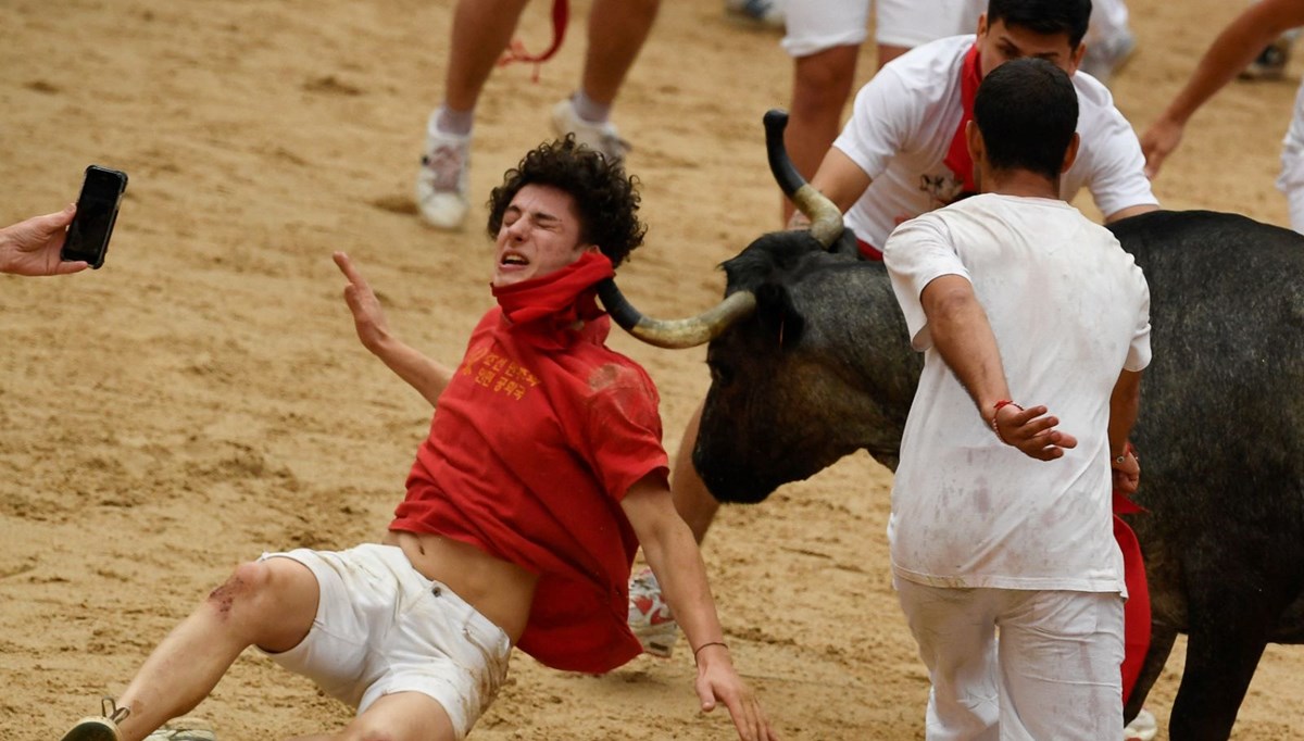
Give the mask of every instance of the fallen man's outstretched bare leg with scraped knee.
M 239 566 L 190 617 L 163 639 L 119 698 L 132 714 L 123 741 L 140 741 L 213 691 L 249 646 L 295 647 L 317 613 L 317 578 L 288 558 Z

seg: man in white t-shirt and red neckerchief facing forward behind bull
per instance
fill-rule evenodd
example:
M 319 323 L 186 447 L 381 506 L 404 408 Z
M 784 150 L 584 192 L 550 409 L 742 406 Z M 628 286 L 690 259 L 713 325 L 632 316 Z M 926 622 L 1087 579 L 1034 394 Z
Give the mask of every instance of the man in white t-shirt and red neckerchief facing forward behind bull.
M 1077 91 L 1082 145 L 1061 197 L 1089 188 L 1106 220 L 1158 207 L 1108 89 L 1074 74 L 1090 14 L 1090 0 L 992 0 L 977 37 L 917 47 L 861 89 L 811 184 L 842 209 L 865 252 L 876 256 L 901 222 L 973 192 L 962 136 L 973 95 L 992 69 L 1025 56 L 1069 73 Z

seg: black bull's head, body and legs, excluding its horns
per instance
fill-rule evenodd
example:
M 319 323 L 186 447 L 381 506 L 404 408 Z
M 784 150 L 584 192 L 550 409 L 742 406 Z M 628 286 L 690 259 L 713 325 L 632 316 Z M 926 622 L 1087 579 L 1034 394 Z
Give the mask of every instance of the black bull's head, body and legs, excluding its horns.
M 1171 737 L 1227 738 L 1264 646 L 1304 642 L 1304 236 L 1209 211 L 1112 230 L 1149 280 L 1154 351 L 1132 436 L 1148 511 L 1127 518 L 1154 634 L 1125 716 L 1187 633 Z M 756 310 L 709 346 L 694 463 L 715 496 L 756 502 L 859 449 L 895 470 L 922 360 L 883 264 L 784 232 L 725 271 Z

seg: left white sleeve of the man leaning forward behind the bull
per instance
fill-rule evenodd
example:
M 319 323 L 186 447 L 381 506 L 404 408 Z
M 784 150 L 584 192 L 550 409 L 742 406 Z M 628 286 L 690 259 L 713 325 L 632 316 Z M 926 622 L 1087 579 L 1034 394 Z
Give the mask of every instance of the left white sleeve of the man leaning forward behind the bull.
M 855 94 L 852 117 L 833 146 L 852 158 L 870 179 L 888 168 L 888 162 L 906 149 L 918 132 L 923 106 L 919 94 L 891 65 L 879 70 Z

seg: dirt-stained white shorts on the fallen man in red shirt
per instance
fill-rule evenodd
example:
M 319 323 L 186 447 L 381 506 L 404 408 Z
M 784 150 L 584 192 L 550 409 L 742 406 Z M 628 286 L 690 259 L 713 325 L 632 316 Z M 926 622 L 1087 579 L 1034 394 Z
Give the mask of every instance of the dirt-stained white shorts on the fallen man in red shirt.
M 511 641 L 502 629 L 422 577 L 396 545 L 299 548 L 259 561 L 267 558 L 299 561 L 321 588 L 308 637 L 273 660 L 360 714 L 387 694 L 429 695 L 466 738 L 507 676 Z

